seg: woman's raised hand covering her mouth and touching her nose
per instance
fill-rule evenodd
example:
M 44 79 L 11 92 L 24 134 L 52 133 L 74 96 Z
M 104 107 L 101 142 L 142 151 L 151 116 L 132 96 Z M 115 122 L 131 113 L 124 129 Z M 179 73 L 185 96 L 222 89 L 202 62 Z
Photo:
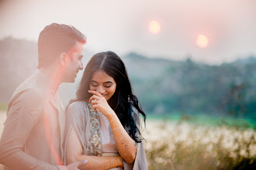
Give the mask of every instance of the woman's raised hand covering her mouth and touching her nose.
M 105 97 L 102 96 L 101 93 L 93 90 L 88 90 L 89 93 L 92 93 L 92 97 L 90 97 L 89 102 L 92 103 L 92 108 L 94 110 L 99 110 L 106 117 L 111 117 L 112 114 L 115 114 L 114 110 L 109 106 Z

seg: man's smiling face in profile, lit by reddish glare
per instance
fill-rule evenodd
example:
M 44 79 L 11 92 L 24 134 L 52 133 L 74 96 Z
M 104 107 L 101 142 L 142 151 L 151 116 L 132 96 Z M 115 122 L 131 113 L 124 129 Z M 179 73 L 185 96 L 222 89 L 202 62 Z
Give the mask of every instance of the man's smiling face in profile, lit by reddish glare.
M 67 52 L 67 67 L 64 70 L 62 82 L 74 83 L 75 77 L 78 75 L 79 70 L 83 70 L 83 63 L 81 59 L 84 53 L 84 44 L 77 42 Z

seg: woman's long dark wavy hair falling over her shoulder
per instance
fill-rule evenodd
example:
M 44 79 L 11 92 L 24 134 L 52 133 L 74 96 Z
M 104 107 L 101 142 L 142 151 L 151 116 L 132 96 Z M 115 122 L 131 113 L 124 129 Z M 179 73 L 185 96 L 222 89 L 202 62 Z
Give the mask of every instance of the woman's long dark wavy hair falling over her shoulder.
M 116 91 L 108 100 L 109 106 L 116 112 L 123 127 L 130 129 L 128 132 L 130 137 L 137 143 L 140 143 L 143 138 L 136 123 L 139 121 L 140 114 L 144 118 L 144 123 L 147 116 L 142 110 L 139 100 L 133 94 L 126 67 L 124 66 L 122 59 L 120 59 L 116 53 L 108 51 L 96 53 L 92 56 L 92 59 L 89 60 L 85 67 L 81 83 L 76 93 L 76 98 L 71 100 L 69 104 L 78 100 L 88 102 L 89 98 L 92 97 L 92 94 L 88 93 L 92 75 L 99 70 L 106 72 L 116 81 Z M 136 114 L 134 112 L 135 110 L 132 109 L 132 106 L 135 107 L 140 114 Z M 140 124 L 140 122 L 138 123 Z M 137 132 L 139 135 L 137 135 Z

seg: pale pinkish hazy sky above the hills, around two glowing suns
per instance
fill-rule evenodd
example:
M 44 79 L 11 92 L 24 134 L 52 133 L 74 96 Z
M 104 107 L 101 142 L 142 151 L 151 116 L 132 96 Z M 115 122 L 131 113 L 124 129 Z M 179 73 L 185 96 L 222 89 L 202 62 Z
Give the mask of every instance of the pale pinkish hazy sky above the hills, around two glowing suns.
M 151 21 L 159 32 L 150 32 Z M 256 56 L 255 0 L 0 0 L 0 39 L 36 42 L 52 22 L 79 29 L 94 53 L 209 64 Z M 206 46 L 198 45 L 199 35 Z

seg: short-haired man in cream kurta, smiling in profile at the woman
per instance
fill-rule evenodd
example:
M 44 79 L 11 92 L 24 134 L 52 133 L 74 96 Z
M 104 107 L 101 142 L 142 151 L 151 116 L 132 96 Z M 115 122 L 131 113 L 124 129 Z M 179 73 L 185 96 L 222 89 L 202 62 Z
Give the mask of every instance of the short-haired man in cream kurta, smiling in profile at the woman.
M 78 169 L 64 160 L 64 107 L 57 95 L 63 82 L 74 82 L 86 39 L 73 26 L 53 23 L 38 39 L 38 70 L 12 94 L 0 140 L 5 169 Z

